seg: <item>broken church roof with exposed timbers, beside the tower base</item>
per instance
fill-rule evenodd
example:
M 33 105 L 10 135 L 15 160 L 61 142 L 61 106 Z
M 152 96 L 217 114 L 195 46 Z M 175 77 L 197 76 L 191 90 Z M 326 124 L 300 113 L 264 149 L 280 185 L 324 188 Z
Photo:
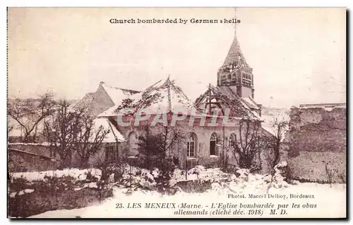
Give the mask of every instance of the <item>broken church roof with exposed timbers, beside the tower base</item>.
M 251 110 L 237 94 L 235 94 L 228 86 L 208 86 L 208 90 L 198 97 L 195 101 L 196 107 L 204 109 L 208 107 L 216 107 L 222 110 L 224 115 L 225 109 L 229 108 L 229 116 L 246 120 L 261 120 L 258 113 Z

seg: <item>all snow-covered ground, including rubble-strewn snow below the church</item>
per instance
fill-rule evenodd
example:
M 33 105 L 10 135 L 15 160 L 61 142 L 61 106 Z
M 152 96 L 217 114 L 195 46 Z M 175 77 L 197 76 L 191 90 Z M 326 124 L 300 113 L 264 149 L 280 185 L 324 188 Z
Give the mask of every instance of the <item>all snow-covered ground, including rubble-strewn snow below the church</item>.
M 140 179 L 152 180 L 157 171 L 149 173 L 147 170 L 132 168 L 132 173 L 140 171 Z M 100 204 L 71 210 L 55 210 L 32 216 L 32 218 L 121 218 L 121 217 L 345 217 L 346 212 L 346 185 L 318 183 L 287 184 L 283 178 L 276 174 L 272 179 L 270 175 L 253 175 L 246 170 L 239 170 L 240 175 L 223 173 L 219 168 L 204 168 L 197 166 L 188 171 L 188 180 L 210 180 L 212 188 L 203 193 L 186 193 L 178 190 L 175 195 L 161 195 L 155 190 L 138 188 L 130 192 L 128 188 L 114 187 L 114 197 L 104 200 Z M 64 173 L 64 172 L 63 172 Z M 71 172 L 77 177 L 82 171 Z M 83 173 L 85 173 L 83 171 Z M 138 177 L 138 175 L 134 175 Z M 30 176 L 31 177 L 31 176 Z M 176 170 L 169 182 L 170 186 L 178 181 L 185 180 L 183 171 Z M 140 180 L 141 182 L 141 180 Z M 153 182 L 150 182 L 150 184 Z M 30 193 L 28 193 L 30 195 Z M 252 196 L 251 196 L 252 195 Z M 133 204 L 135 203 L 135 204 Z M 170 203 L 176 208 L 155 209 L 150 208 L 157 204 Z M 182 204 L 200 204 L 198 209 L 183 208 Z M 237 204 L 237 207 L 234 206 Z M 257 204 L 257 206 L 253 205 Z M 270 214 L 270 208 L 263 208 L 259 204 L 273 204 L 272 209 L 277 214 Z M 249 209 L 249 207 L 255 207 Z M 293 208 L 294 205 L 299 208 Z M 148 207 L 150 206 L 150 207 Z M 185 206 L 185 205 L 184 205 Z M 134 208 L 132 208 L 134 207 Z M 260 208 L 259 208 L 260 207 Z M 216 212 L 216 209 L 218 211 Z M 244 212 L 243 215 L 233 214 L 235 209 Z M 253 209 L 261 209 L 261 215 L 253 214 Z M 183 211 L 184 210 L 184 211 Z M 227 212 L 231 213 L 226 214 Z M 285 210 L 285 211 L 281 211 Z M 207 214 L 192 214 L 192 213 Z M 218 213 L 215 215 L 215 212 Z M 222 214 L 225 213 L 225 214 Z M 280 213 L 283 213 L 282 215 Z M 185 214 L 189 213 L 189 214 Z M 252 213 L 252 214 L 251 214 Z

